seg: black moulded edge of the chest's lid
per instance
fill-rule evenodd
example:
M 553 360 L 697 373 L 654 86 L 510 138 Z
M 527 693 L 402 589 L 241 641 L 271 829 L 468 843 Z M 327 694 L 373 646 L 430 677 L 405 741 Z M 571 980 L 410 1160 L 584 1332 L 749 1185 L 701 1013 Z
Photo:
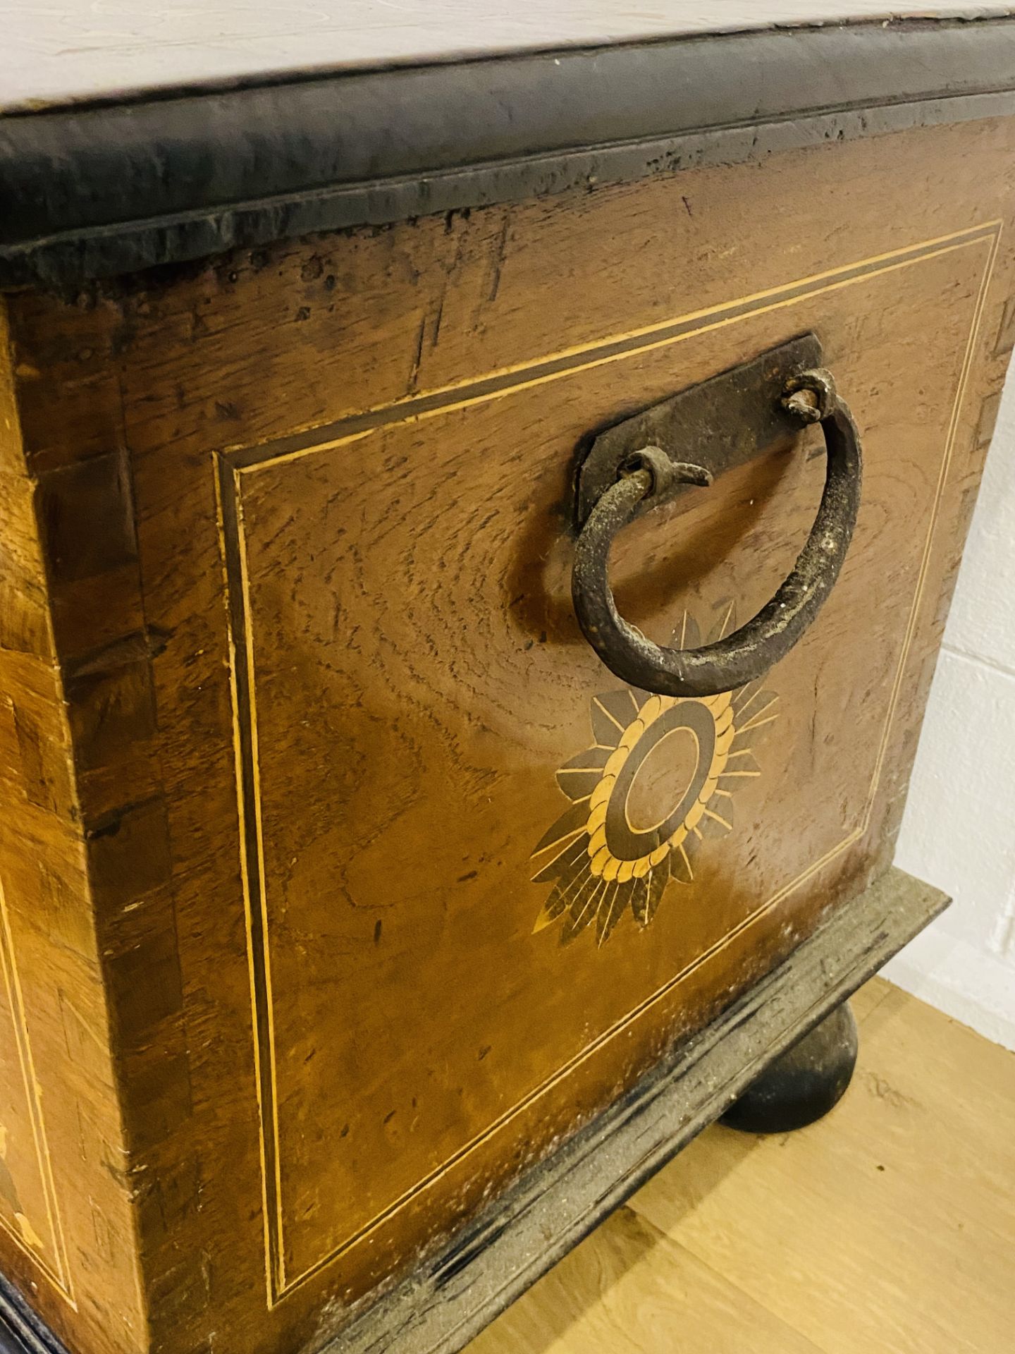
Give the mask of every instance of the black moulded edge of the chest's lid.
M 0 287 L 1015 112 L 1015 19 L 763 30 L 0 118 Z

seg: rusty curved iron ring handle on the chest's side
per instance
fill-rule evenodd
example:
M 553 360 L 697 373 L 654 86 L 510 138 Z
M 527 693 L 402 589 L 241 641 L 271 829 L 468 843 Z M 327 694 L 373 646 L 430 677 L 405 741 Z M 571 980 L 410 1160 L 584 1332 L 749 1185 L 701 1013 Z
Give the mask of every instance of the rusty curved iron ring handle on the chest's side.
M 651 497 L 674 482 L 712 483 L 701 466 L 674 463 L 658 447 L 632 456 L 598 498 L 575 543 L 571 597 L 582 634 L 623 681 L 662 696 L 715 696 L 757 681 L 789 653 L 839 577 L 859 508 L 862 452 L 849 406 L 830 372 L 800 372 L 784 390 L 784 408 L 801 422 L 819 422 L 826 444 L 821 502 L 807 544 L 767 605 L 739 630 L 701 649 L 664 649 L 617 612 L 609 585 L 614 536 Z

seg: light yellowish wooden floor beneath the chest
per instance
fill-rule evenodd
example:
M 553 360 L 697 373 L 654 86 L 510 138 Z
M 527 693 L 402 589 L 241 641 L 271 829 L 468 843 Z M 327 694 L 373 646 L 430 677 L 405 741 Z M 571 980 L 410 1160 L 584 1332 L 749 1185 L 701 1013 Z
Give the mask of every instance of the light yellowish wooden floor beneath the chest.
M 846 1098 L 712 1128 L 468 1354 L 1015 1351 L 1015 1055 L 874 979 Z

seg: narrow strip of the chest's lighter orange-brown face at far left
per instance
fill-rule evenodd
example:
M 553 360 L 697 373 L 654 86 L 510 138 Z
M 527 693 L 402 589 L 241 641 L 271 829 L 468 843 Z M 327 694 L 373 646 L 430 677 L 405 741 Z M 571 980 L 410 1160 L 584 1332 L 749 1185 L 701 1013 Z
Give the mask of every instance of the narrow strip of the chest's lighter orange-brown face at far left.
M 115 1036 L 0 313 L 0 1252 L 55 1330 L 142 1342 Z

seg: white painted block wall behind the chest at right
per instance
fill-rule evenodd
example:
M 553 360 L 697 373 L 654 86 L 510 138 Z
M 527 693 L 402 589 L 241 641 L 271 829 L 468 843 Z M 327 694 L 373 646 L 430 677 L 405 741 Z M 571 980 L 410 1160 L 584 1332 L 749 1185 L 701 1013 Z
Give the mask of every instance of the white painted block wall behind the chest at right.
M 885 976 L 1015 1049 L 1015 376 L 1004 387 L 896 864 L 954 898 Z

